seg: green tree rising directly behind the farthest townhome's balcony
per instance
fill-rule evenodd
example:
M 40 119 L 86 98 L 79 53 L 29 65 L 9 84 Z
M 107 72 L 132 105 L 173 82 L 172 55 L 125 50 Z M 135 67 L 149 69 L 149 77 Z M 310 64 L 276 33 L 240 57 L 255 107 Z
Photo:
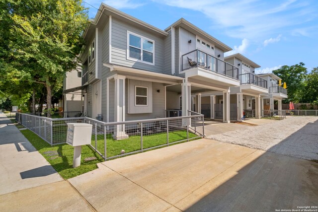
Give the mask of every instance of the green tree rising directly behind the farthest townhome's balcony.
M 273 71 L 274 74 L 282 78 L 282 82 L 287 84 L 288 99 L 285 99 L 284 103 L 290 101 L 297 103 L 302 100 L 307 74 L 307 68 L 304 66 L 304 63 L 299 63 L 294 66 L 282 66 Z

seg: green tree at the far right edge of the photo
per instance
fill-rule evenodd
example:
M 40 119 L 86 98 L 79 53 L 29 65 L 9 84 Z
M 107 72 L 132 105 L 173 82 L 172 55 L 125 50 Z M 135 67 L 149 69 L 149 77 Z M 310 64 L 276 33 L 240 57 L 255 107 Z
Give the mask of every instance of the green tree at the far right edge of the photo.
M 318 102 L 318 67 L 314 68 L 306 76 L 306 85 L 302 102 L 314 103 Z

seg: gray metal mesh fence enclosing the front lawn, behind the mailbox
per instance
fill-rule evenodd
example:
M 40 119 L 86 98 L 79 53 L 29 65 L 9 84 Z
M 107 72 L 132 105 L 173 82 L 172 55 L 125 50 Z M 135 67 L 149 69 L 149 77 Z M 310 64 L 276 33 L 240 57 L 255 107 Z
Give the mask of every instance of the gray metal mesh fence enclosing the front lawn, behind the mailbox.
M 105 123 L 87 117 L 50 119 L 16 113 L 15 120 L 51 145 L 66 142 L 67 123 L 92 124 L 90 146 L 105 160 L 204 137 L 204 117 L 188 116 Z

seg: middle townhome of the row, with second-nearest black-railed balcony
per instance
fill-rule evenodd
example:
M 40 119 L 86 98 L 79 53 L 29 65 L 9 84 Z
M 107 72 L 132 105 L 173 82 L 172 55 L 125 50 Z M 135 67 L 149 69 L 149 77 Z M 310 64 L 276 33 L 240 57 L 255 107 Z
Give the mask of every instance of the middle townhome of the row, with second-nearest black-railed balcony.
M 268 82 L 254 74 L 260 66 L 239 53 L 226 57 L 225 61 L 239 67 L 240 85 L 230 89 L 233 109 L 237 105 L 237 120 L 261 118 L 263 99 L 268 95 Z

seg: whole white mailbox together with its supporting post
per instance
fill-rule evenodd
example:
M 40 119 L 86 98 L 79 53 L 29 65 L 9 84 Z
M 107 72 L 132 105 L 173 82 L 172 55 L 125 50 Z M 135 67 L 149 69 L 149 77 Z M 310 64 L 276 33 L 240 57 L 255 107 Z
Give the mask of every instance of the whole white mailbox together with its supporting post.
M 80 165 L 81 146 L 91 142 L 92 125 L 84 123 L 68 123 L 66 142 L 74 146 L 73 168 Z

